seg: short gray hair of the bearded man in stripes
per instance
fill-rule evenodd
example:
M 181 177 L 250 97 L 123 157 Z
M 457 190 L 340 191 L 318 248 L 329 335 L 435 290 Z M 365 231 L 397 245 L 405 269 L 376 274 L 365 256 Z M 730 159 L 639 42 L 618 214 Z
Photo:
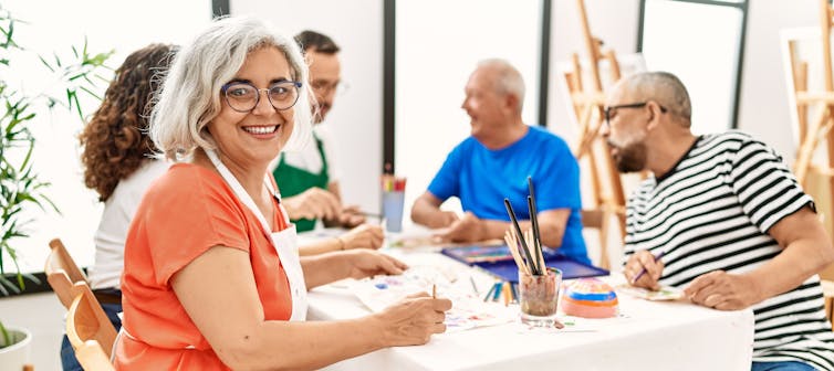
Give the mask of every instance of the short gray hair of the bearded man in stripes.
M 644 72 L 625 77 L 623 86 L 636 98 L 656 100 L 670 114 L 691 124 L 692 105 L 680 80 L 668 72 Z

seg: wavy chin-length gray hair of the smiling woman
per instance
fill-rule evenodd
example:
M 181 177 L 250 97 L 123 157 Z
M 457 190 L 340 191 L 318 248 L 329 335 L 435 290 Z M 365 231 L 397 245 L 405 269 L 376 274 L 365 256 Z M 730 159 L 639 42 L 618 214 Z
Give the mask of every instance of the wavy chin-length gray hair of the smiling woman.
M 303 84 L 294 106 L 292 135 L 284 149 L 298 149 L 311 138 L 307 67 L 299 45 L 251 17 L 216 20 L 184 46 L 168 71 L 150 114 L 150 138 L 160 157 L 181 161 L 197 148 L 217 146 L 207 125 L 220 113 L 220 91 L 240 71 L 247 55 L 263 46 L 281 51 L 292 80 Z

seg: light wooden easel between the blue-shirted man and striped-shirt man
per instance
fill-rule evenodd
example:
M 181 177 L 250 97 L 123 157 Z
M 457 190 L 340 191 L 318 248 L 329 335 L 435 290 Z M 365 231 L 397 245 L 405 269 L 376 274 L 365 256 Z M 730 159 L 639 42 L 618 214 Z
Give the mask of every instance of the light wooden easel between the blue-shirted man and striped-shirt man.
M 612 83 L 617 82 L 621 77 L 619 63 L 614 51 L 603 52 L 601 50 L 602 41 L 591 34 L 584 0 L 577 0 L 576 4 L 580 10 L 580 20 L 588 54 L 591 78 L 587 83 L 583 82 L 583 68 L 576 53 L 573 53 L 571 57 L 573 71 L 565 73 L 563 77 L 566 80 L 573 109 L 580 124 L 578 141 L 574 149 L 574 156 L 577 161 L 587 160 L 591 170 L 588 173 L 593 190 L 591 197 L 593 205 L 584 214 L 601 214 L 594 220 L 605 220 L 611 215 L 617 215 L 621 235 L 625 236 L 625 192 L 623 191 L 623 183 L 611 152 L 600 137 L 605 109 L 605 93 L 600 77 L 600 62 L 607 61 L 609 63 Z M 586 221 L 586 223 L 588 222 L 591 220 Z M 594 223 L 591 222 L 591 224 Z M 593 226 L 604 225 L 598 224 Z M 607 227 L 601 229 L 600 236 L 601 265 L 606 269 L 611 267 L 606 243 L 607 233 L 605 233 L 607 230 Z

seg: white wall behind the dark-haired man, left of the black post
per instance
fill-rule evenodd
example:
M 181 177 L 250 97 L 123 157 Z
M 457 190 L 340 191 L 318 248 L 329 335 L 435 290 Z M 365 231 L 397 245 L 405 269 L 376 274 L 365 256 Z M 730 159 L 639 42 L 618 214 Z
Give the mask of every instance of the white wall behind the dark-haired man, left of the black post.
M 379 210 L 383 158 L 383 1 L 232 0 L 231 14 L 254 14 L 294 35 L 313 30 L 341 47 L 342 80 L 326 125 L 335 142 L 342 198 L 363 210 Z

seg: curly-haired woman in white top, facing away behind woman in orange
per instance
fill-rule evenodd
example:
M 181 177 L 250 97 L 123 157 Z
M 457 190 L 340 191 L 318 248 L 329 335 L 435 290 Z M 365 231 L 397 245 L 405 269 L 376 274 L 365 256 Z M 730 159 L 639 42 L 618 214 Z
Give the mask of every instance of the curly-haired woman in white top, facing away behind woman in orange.
M 145 190 L 170 166 L 152 158 L 156 147 L 147 136 L 146 113 L 176 51 L 174 45 L 152 44 L 128 55 L 79 136 L 84 183 L 104 202 L 90 285 L 116 329 L 122 327 L 116 314 L 122 311 L 119 278 L 127 230 Z M 64 370 L 81 370 L 66 337 L 61 362 Z

